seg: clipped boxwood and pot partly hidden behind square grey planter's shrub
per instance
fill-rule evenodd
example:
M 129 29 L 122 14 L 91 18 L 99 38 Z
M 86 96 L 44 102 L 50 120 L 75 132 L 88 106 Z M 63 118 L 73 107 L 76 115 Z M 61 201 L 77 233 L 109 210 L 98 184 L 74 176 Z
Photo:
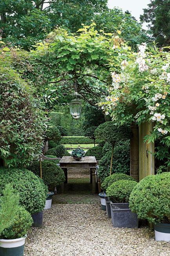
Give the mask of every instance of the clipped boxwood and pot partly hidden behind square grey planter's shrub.
M 114 173 L 104 179 L 104 181 L 101 184 L 101 188 L 104 191 L 104 198 L 106 201 L 106 214 L 108 218 L 111 218 L 111 211 L 110 211 L 110 199 L 106 195 L 106 189 L 113 184 L 113 182 L 116 182 L 118 180 L 133 180 L 135 181 L 131 176 L 124 174 L 124 173 Z

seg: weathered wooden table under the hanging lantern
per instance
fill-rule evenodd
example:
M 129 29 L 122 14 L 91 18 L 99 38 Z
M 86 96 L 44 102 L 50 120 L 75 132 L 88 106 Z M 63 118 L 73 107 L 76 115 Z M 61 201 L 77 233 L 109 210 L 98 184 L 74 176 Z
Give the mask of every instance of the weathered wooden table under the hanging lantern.
M 90 169 L 91 183 L 92 183 L 92 193 L 96 193 L 96 167 L 97 161 L 95 156 L 85 156 L 81 160 L 74 160 L 72 156 L 63 156 L 60 160 L 60 167 L 63 169 L 66 181 L 68 183 L 68 169 L 72 168 L 84 168 Z

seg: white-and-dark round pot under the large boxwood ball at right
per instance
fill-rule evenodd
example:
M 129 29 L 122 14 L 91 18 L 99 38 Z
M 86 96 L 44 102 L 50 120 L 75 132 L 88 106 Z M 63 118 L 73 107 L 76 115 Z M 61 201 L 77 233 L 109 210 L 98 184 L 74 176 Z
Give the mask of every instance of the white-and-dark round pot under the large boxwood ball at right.
M 170 224 L 169 223 L 156 223 L 155 228 L 155 241 L 170 241 Z

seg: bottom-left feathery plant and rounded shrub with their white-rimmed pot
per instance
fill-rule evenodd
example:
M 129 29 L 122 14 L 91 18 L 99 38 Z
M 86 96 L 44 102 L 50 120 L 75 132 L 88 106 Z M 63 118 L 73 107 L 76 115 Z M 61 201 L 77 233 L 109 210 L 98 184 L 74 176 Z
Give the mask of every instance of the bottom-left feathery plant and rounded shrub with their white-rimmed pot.
M 26 234 L 33 223 L 30 213 L 18 206 L 19 197 L 7 184 L 0 198 L 0 255 L 23 256 Z

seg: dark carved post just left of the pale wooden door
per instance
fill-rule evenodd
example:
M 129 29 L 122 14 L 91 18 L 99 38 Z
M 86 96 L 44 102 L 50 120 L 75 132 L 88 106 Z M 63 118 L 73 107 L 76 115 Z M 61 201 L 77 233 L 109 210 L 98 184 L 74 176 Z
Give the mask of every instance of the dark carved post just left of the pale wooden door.
M 131 124 L 132 138 L 130 139 L 130 176 L 139 181 L 139 127 Z

